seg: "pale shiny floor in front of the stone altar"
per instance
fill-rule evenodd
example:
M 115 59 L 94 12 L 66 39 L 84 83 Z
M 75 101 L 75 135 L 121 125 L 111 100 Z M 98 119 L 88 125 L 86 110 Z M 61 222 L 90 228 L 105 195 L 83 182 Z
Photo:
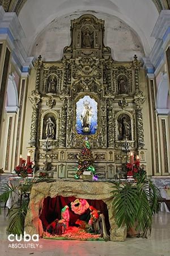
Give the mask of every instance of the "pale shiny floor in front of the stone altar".
M 125 242 L 98 241 L 56 241 L 40 239 L 37 248 L 11 248 L 6 235 L 6 212 L 0 216 L 0 255 L 35 256 L 169 256 L 170 255 L 170 213 L 159 213 L 154 217 L 151 238 L 127 238 Z M 18 242 L 23 246 L 31 246 Z M 32 242 L 29 242 L 29 244 Z M 36 243 L 38 244 L 36 246 Z M 18 245 L 19 246 L 19 245 Z M 20 247 L 20 246 L 19 246 Z

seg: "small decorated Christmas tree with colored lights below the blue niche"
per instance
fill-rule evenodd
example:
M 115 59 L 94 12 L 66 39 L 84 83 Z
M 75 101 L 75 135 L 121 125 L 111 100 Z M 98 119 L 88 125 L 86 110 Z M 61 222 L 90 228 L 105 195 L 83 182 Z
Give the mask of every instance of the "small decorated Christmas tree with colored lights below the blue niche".
M 94 167 L 94 158 L 90 150 L 88 138 L 85 139 L 82 151 L 78 155 L 78 167 L 76 168 L 76 173 L 74 175 L 75 179 L 79 179 L 80 175 L 84 172 L 86 172 L 86 174 L 93 175 L 93 179 L 97 180 L 96 170 Z

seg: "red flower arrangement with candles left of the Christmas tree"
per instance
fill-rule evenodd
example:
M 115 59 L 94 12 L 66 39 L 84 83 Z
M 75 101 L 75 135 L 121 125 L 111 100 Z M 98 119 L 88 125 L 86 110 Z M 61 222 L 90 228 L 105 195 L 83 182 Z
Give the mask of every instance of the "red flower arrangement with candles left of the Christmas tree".
M 20 159 L 19 166 L 15 167 L 15 172 L 18 176 L 27 177 L 33 174 L 32 162 L 27 162 L 24 159 Z

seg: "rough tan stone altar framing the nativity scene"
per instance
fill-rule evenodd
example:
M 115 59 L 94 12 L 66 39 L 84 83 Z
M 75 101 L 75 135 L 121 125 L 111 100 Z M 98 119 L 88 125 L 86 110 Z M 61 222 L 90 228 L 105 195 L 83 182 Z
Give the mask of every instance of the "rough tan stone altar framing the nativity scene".
M 43 182 L 34 184 L 31 190 L 28 212 L 25 217 L 24 230 L 27 234 L 39 234 L 43 236 L 45 230 L 42 227 L 40 215 L 44 207 L 46 197 L 75 197 L 76 199 L 102 200 L 107 205 L 109 225 L 111 226 L 110 240 L 124 241 L 126 238 L 126 227 L 118 228 L 113 212 L 113 184 L 109 182 L 93 181 L 63 181 L 58 179 L 54 182 Z M 99 209 L 97 209 L 99 210 Z

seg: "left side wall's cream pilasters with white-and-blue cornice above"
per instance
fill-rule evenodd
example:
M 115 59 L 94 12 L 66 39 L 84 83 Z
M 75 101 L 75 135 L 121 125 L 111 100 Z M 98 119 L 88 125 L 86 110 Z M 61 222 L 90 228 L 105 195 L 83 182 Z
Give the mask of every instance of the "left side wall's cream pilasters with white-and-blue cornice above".
M 19 154 L 22 152 L 27 79 L 33 60 L 33 57 L 27 57 L 21 43 L 22 38 L 24 38 L 24 31 L 16 13 L 5 13 L 3 7 L 0 6 L 0 135 L 2 127 L 3 135 L 5 131 L 5 137 L 0 136 L 2 150 L 0 164 L 7 171 L 14 170 L 19 162 Z M 17 103 L 14 105 L 7 103 L 5 112 L 8 77 L 12 72 L 11 65 L 20 77 L 19 85 L 15 88 L 18 91 L 16 93 Z

